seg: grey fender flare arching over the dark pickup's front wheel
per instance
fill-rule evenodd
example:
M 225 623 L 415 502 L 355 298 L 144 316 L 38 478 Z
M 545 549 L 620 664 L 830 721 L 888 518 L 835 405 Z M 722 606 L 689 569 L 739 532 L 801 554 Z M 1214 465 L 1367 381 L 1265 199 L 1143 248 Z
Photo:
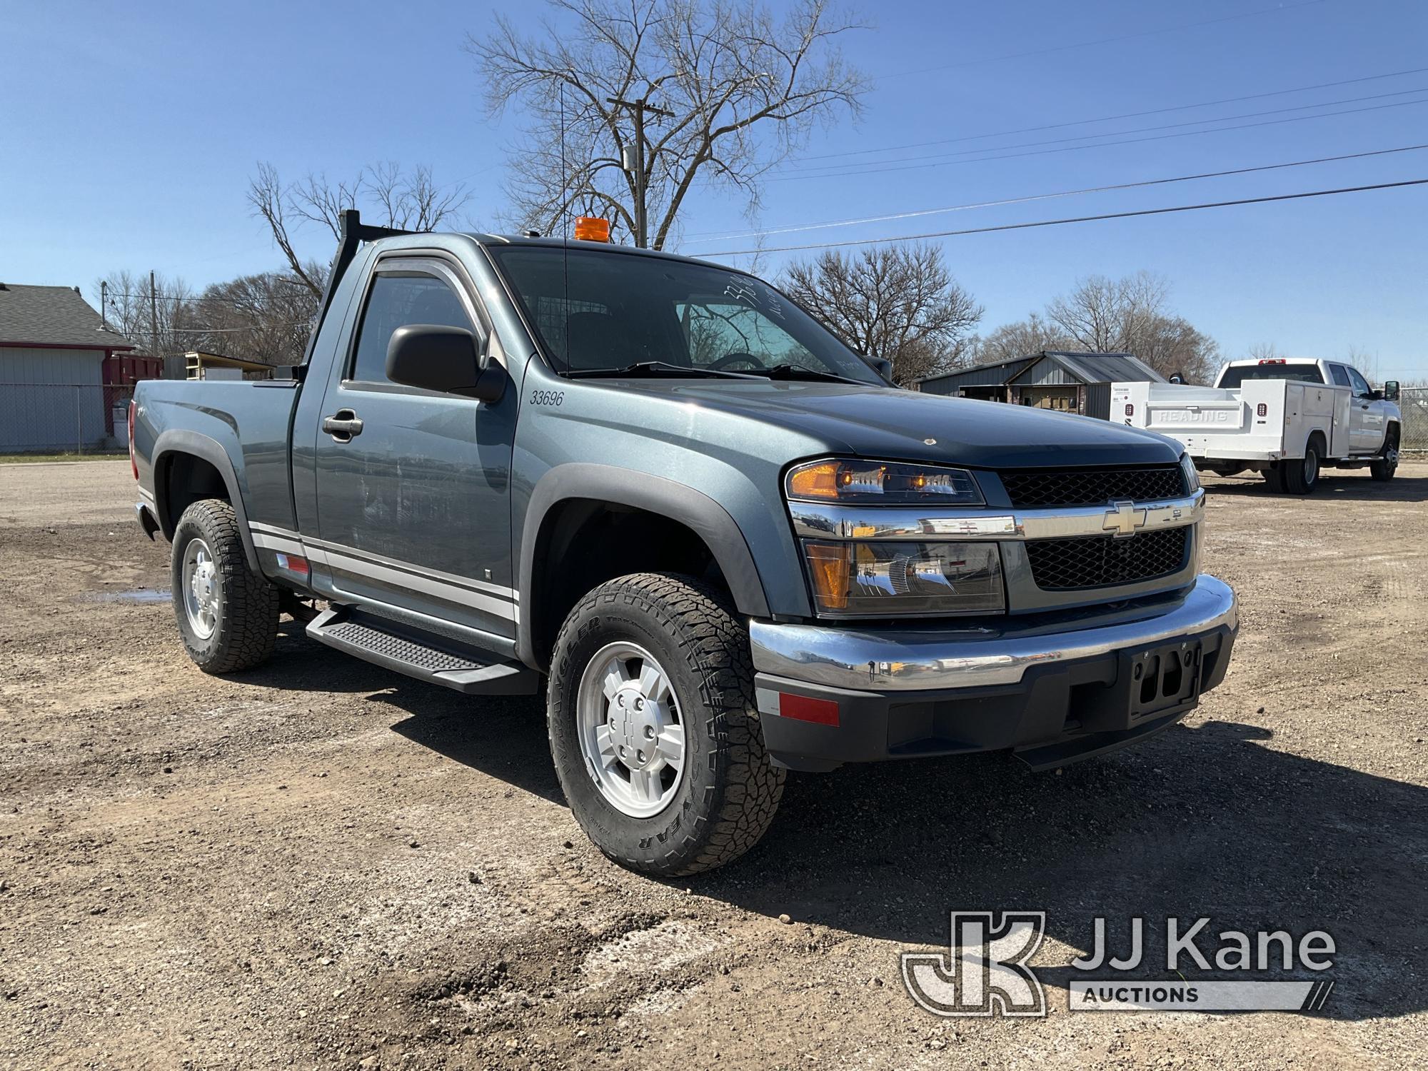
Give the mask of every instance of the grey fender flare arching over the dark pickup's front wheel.
M 668 517 L 693 530 L 718 563 L 734 605 L 745 617 L 768 617 L 768 598 L 754 565 L 744 533 L 728 511 L 703 491 L 668 480 L 663 476 L 640 473 L 614 466 L 571 461 L 547 471 L 531 491 L 526 506 L 526 520 L 520 541 L 520 598 L 521 614 L 516 647 L 527 664 L 533 664 L 533 607 L 531 594 L 536 574 L 536 545 L 547 514 L 560 503 L 573 498 L 593 498 Z

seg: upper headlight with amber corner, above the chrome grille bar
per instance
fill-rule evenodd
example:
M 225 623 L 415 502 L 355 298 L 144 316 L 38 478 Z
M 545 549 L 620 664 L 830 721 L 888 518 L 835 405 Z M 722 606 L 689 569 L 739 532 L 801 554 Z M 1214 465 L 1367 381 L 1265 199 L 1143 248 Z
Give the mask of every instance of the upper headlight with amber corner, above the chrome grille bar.
M 788 470 L 784 493 L 805 503 L 867 506 L 981 506 L 981 491 L 965 468 L 828 458 Z

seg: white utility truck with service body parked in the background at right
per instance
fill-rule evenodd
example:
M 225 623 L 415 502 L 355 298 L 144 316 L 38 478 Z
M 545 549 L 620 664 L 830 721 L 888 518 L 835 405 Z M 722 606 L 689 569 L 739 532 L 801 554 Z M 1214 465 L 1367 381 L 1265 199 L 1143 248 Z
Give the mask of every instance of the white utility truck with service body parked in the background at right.
M 1112 383 L 1111 420 L 1180 440 L 1197 468 L 1264 473 L 1269 487 L 1308 494 L 1319 468 L 1362 468 L 1391 480 L 1402 416 L 1398 383 L 1368 386 L 1338 361 L 1230 361 L 1214 387 Z

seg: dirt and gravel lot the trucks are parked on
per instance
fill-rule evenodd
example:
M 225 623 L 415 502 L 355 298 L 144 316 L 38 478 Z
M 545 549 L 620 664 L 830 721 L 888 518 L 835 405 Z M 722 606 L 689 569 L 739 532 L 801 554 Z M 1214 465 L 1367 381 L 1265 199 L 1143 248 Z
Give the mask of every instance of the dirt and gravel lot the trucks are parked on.
M 538 700 L 287 625 L 184 657 L 124 461 L 0 466 L 0 1065 L 1352 1067 L 1428 1052 L 1428 464 L 1309 498 L 1210 481 L 1225 684 L 1137 748 L 793 775 L 741 863 L 584 838 Z M 1044 910 L 1044 1020 L 941 1020 L 898 952 Z M 791 922 L 780 922 L 787 914 Z M 1318 1014 L 1085 1014 L 1091 918 L 1324 928 Z

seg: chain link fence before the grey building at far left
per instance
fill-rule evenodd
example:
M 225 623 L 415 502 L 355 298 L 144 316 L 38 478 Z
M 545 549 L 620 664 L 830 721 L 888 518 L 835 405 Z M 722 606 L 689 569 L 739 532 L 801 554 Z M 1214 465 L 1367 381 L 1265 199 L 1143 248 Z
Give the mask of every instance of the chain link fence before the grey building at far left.
M 0 383 L 0 454 L 129 448 L 133 386 Z

